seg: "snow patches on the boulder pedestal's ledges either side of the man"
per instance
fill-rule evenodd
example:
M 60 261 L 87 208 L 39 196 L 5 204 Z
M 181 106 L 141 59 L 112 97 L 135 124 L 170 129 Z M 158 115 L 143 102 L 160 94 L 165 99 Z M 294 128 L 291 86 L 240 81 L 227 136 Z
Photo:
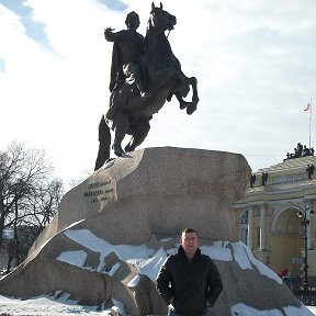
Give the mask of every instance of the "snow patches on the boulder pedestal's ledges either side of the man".
M 97 269 L 98 272 L 102 271 L 104 268 L 104 258 L 113 251 L 121 260 L 134 264 L 137 267 L 140 274 L 147 275 L 153 281 L 156 280 L 160 267 L 165 262 L 168 255 L 177 251 L 177 248 L 167 250 L 160 248 L 155 253 L 155 250 L 148 248 L 145 244 L 140 246 L 112 245 L 97 237 L 88 229 L 67 229 L 64 232 L 64 234 L 79 245 L 90 249 L 91 251 L 100 253 L 100 263 Z M 202 253 L 210 256 L 214 260 L 235 260 L 242 270 L 252 270 L 252 266 L 255 266 L 262 275 L 266 275 L 282 284 L 282 280 L 276 275 L 276 273 L 256 259 L 250 249 L 241 241 L 215 241 L 212 246 L 201 246 L 200 248 Z M 86 260 L 84 253 L 86 252 L 81 250 L 64 251 L 56 259 L 82 268 Z

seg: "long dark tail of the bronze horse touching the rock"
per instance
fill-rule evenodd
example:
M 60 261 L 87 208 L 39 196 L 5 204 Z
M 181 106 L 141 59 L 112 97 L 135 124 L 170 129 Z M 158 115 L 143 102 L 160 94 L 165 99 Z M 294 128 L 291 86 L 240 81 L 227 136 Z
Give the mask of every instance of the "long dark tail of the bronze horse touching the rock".
M 102 115 L 99 124 L 99 151 L 95 161 L 94 171 L 99 170 L 110 158 L 111 149 L 111 131 L 108 126 L 104 115 Z

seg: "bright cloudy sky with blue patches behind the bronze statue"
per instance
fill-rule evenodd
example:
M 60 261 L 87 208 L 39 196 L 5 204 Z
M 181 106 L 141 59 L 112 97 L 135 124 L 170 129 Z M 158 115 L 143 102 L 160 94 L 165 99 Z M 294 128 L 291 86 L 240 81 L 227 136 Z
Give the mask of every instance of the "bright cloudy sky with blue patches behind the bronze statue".
M 256 171 L 282 161 L 297 142 L 308 145 L 303 110 L 316 100 L 316 1 L 162 3 L 177 15 L 169 41 L 183 72 L 198 78 L 201 101 L 191 116 L 167 103 L 139 148 L 238 153 Z M 91 172 L 110 97 L 112 45 L 103 30 L 124 29 L 136 11 L 145 35 L 150 5 L 0 0 L 0 149 L 13 139 L 45 149 L 65 181 Z

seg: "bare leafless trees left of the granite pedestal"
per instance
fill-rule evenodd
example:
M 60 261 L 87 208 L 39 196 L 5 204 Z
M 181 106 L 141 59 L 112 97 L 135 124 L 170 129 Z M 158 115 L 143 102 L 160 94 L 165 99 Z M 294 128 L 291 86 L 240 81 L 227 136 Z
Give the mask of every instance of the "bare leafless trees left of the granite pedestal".
M 34 233 L 33 244 L 60 203 L 63 182 L 52 180 L 52 163 L 45 158 L 44 150 L 25 149 L 22 144 L 13 142 L 7 151 L 0 151 L 0 248 L 3 230 L 10 227 L 13 239 L 8 244 L 9 253 L 18 263 L 25 257 L 22 251 L 27 244 L 22 237 L 23 232 L 26 235 L 25 227 L 32 227 L 29 230 Z M 27 235 L 31 234 L 29 230 Z

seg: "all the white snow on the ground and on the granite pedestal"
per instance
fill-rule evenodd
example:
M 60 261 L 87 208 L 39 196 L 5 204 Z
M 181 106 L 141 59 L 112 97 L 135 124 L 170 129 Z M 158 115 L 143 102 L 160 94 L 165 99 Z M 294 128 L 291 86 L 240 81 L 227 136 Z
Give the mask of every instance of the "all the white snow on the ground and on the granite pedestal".
M 89 248 L 91 251 L 100 253 L 100 263 L 97 268 L 97 271 L 101 273 L 115 273 L 120 264 L 119 262 L 113 266 L 109 271 L 104 271 L 104 258 L 110 252 L 115 252 L 116 256 L 124 261 L 127 261 L 139 270 L 139 273 L 148 275 L 153 281 L 156 280 L 158 271 L 169 253 L 177 251 L 176 248 L 170 248 L 165 251 L 163 248 L 160 248 L 158 251 L 155 251 L 148 248 L 146 245 L 140 246 L 131 246 L 131 245 L 111 245 L 106 240 L 103 240 L 95 235 L 93 235 L 88 229 L 67 229 L 64 234 L 76 241 L 79 245 Z M 167 238 L 168 242 L 170 238 Z M 241 241 L 232 242 L 229 247 L 226 247 L 226 241 L 216 241 L 213 246 L 201 246 L 201 251 L 205 255 L 208 255 L 212 259 L 222 260 L 222 261 L 232 261 L 235 260 L 240 269 L 247 270 L 256 267 L 259 273 L 270 278 L 278 283 L 282 283 L 282 280 L 262 262 L 257 260 L 249 248 L 245 246 Z M 84 249 L 82 247 L 82 249 Z M 84 262 L 88 253 L 83 250 L 76 251 L 63 251 L 57 256 L 57 260 L 67 262 L 80 267 L 82 269 L 92 269 L 91 267 L 84 267 Z M 138 278 L 139 279 L 139 278 Z M 138 279 L 133 279 L 127 286 L 135 286 L 138 282 Z M 0 296 L 0 314 L 9 313 L 12 315 L 38 315 L 38 316 L 68 316 L 69 314 L 76 315 L 89 315 L 89 316 L 105 316 L 113 315 L 113 311 L 120 312 L 121 315 L 125 316 L 124 305 L 112 298 L 114 307 L 111 309 L 105 309 L 102 306 L 80 306 L 77 302 L 69 300 L 69 295 L 64 292 L 57 292 L 52 296 L 38 296 L 30 300 L 21 301 L 12 297 Z M 309 311 L 312 312 L 309 312 Z M 286 316 L 312 316 L 316 315 L 316 307 L 305 308 L 302 305 L 301 307 L 287 306 L 284 307 Z M 232 315 L 239 316 L 283 316 L 280 311 L 257 311 L 251 306 L 247 306 L 242 303 L 235 304 L 232 306 Z

